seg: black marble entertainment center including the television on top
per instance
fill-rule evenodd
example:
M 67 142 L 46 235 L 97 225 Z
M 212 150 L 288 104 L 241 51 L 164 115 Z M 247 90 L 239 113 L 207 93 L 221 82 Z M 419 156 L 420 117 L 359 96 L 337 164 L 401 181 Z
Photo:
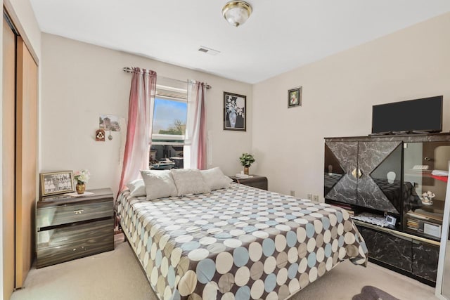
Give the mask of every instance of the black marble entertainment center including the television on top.
M 409 112 L 403 118 L 428 109 L 434 119 L 398 122 L 397 115 L 386 127 L 380 112 L 390 107 Z M 442 131 L 442 96 L 374 105 L 370 136 L 325 138 L 323 192 L 352 215 L 371 261 L 435 286 L 450 133 L 423 131 Z

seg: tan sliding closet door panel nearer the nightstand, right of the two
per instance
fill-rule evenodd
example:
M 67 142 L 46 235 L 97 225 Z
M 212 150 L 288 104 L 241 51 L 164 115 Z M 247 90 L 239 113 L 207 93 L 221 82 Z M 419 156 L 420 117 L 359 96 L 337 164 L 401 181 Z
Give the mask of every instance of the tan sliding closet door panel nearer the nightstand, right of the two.
M 22 287 L 34 258 L 37 201 L 37 64 L 17 38 L 15 176 L 15 287 Z

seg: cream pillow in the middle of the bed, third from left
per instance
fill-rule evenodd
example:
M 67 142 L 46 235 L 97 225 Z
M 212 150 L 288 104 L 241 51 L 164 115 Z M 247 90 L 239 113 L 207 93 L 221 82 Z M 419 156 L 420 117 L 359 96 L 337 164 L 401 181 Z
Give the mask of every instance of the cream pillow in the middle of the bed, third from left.
M 198 169 L 172 169 L 170 171 L 179 196 L 211 192 Z

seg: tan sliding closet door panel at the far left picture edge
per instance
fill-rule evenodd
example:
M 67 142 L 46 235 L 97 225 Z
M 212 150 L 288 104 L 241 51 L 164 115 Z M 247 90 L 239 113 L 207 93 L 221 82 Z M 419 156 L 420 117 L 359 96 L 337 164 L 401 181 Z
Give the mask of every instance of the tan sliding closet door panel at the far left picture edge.
M 15 34 L 3 20 L 3 95 L 1 138 L 3 157 L 3 299 L 14 289 L 14 197 L 15 197 Z

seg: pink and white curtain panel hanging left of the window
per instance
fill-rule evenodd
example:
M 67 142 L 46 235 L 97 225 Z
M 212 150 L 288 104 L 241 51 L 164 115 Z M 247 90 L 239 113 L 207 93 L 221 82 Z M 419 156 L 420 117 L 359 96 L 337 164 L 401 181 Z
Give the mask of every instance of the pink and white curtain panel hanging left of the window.
M 129 93 L 127 141 L 125 142 L 119 193 L 125 184 L 141 177 L 139 170 L 148 169 L 155 103 L 156 72 L 133 68 Z

